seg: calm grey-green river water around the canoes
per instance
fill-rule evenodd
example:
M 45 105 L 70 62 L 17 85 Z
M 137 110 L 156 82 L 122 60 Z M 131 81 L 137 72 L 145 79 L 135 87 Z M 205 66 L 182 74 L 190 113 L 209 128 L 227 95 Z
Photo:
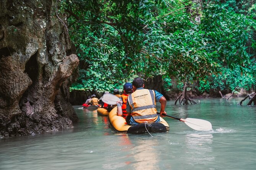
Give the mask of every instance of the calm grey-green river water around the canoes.
M 0 170 L 254 170 L 256 107 L 236 105 L 240 100 L 168 101 L 168 115 L 205 119 L 213 130 L 165 117 L 170 131 L 153 137 L 116 133 L 108 117 L 74 106 L 80 122 L 73 129 L 0 140 Z

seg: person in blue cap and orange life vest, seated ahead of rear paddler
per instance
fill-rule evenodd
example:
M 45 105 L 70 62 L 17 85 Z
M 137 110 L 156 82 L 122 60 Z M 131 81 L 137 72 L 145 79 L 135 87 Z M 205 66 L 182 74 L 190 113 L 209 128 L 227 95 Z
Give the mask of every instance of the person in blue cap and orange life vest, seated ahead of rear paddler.
M 126 117 L 126 103 L 128 96 L 132 93 L 132 83 L 125 83 L 124 84 L 124 93 L 121 95 L 119 102 L 117 102 L 117 115 Z

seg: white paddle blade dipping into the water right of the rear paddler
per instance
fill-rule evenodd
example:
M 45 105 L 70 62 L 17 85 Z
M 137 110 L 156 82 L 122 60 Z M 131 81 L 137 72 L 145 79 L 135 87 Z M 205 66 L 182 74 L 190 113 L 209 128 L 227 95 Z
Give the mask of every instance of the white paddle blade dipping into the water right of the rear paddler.
M 210 123 L 207 120 L 187 118 L 187 119 L 182 119 L 181 121 L 186 123 L 186 125 L 188 125 L 190 128 L 192 128 L 194 130 L 201 130 L 201 131 L 212 130 L 212 123 Z

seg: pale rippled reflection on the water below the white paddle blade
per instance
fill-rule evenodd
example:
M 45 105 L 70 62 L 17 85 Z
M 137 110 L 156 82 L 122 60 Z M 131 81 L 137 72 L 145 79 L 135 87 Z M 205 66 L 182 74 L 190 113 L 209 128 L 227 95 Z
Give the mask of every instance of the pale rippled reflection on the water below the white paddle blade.
M 212 134 L 202 134 L 202 133 L 191 133 L 186 135 L 186 145 L 188 150 L 188 159 L 190 159 L 191 164 L 209 164 L 209 162 L 214 161 L 214 157 L 210 156 L 212 152 Z

